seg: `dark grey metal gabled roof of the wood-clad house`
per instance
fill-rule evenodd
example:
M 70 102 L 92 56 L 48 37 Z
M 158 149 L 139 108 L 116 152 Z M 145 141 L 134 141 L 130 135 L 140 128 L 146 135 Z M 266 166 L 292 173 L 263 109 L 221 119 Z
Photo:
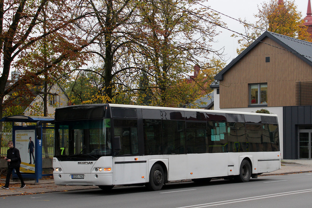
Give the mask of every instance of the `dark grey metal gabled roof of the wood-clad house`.
M 256 45 L 261 43 L 264 38 L 269 37 L 281 46 L 283 46 L 287 51 L 292 52 L 294 55 L 298 56 L 301 60 L 305 61 L 312 66 L 312 43 L 308 41 L 299 40 L 293 37 L 288 37 L 285 35 L 277 34 L 274 32 L 265 31 L 256 41 L 251 43 L 243 52 L 241 52 L 235 59 L 233 59 L 224 69 L 222 69 L 215 77 L 215 80 L 223 80 L 223 74 L 227 70 L 231 69 L 237 61 L 241 60 L 246 54 L 249 53 Z M 272 46 L 274 47 L 274 46 Z

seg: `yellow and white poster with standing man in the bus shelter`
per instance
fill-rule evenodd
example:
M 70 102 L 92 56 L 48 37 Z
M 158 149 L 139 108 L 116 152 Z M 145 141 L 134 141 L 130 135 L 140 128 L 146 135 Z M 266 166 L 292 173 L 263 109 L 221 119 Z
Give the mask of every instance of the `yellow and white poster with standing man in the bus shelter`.
M 35 173 L 35 148 L 33 148 L 33 152 L 28 152 L 28 146 L 32 144 L 30 143 L 30 138 L 32 143 L 35 144 L 35 129 L 15 130 L 15 148 L 20 151 L 22 160 L 21 173 Z

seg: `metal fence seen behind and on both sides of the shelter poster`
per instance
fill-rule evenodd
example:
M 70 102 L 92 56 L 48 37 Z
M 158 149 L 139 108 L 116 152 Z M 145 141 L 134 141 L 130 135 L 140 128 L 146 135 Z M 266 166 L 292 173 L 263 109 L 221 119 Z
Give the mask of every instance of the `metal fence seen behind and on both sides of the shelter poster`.
M 0 132 L 1 146 L 0 146 L 0 157 L 3 158 L 7 155 L 7 143 L 12 141 L 12 133 Z M 52 158 L 54 155 L 54 130 L 46 129 L 42 133 L 42 157 Z

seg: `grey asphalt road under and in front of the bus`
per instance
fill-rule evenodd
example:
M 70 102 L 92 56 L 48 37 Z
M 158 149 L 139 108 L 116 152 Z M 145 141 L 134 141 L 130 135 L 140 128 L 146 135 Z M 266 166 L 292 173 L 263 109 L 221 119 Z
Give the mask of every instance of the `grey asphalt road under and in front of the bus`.
M 247 183 L 212 180 L 170 183 L 160 191 L 144 186 L 63 191 L 0 198 L 1 207 L 114 207 L 114 208 L 202 208 L 202 207 L 311 207 L 312 173 L 262 176 Z

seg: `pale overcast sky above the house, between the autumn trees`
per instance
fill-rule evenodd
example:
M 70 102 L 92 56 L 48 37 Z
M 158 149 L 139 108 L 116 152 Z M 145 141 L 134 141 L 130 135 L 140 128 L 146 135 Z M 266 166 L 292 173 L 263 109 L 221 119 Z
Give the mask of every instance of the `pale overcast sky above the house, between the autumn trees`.
M 235 19 L 241 18 L 244 20 L 246 18 L 248 22 L 254 23 L 256 19 L 253 15 L 258 13 L 257 5 L 261 7 L 262 2 L 269 2 L 269 0 L 208 0 L 207 6 Z M 295 4 L 297 5 L 298 11 L 301 12 L 302 18 L 304 18 L 307 13 L 308 0 L 295 0 Z M 221 18 L 223 22 L 227 23 L 229 29 L 239 33 L 244 32 L 243 26 L 239 24 L 238 21 L 225 17 L 224 15 L 221 15 Z M 238 39 L 231 37 L 233 34 L 232 31 L 222 28 L 218 30 L 222 31 L 222 33 L 215 38 L 218 43 L 213 44 L 213 49 L 224 47 L 224 54 L 226 54 L 224 59 L 229 63 L 237 56 L 236 48 L 238 47 Z

